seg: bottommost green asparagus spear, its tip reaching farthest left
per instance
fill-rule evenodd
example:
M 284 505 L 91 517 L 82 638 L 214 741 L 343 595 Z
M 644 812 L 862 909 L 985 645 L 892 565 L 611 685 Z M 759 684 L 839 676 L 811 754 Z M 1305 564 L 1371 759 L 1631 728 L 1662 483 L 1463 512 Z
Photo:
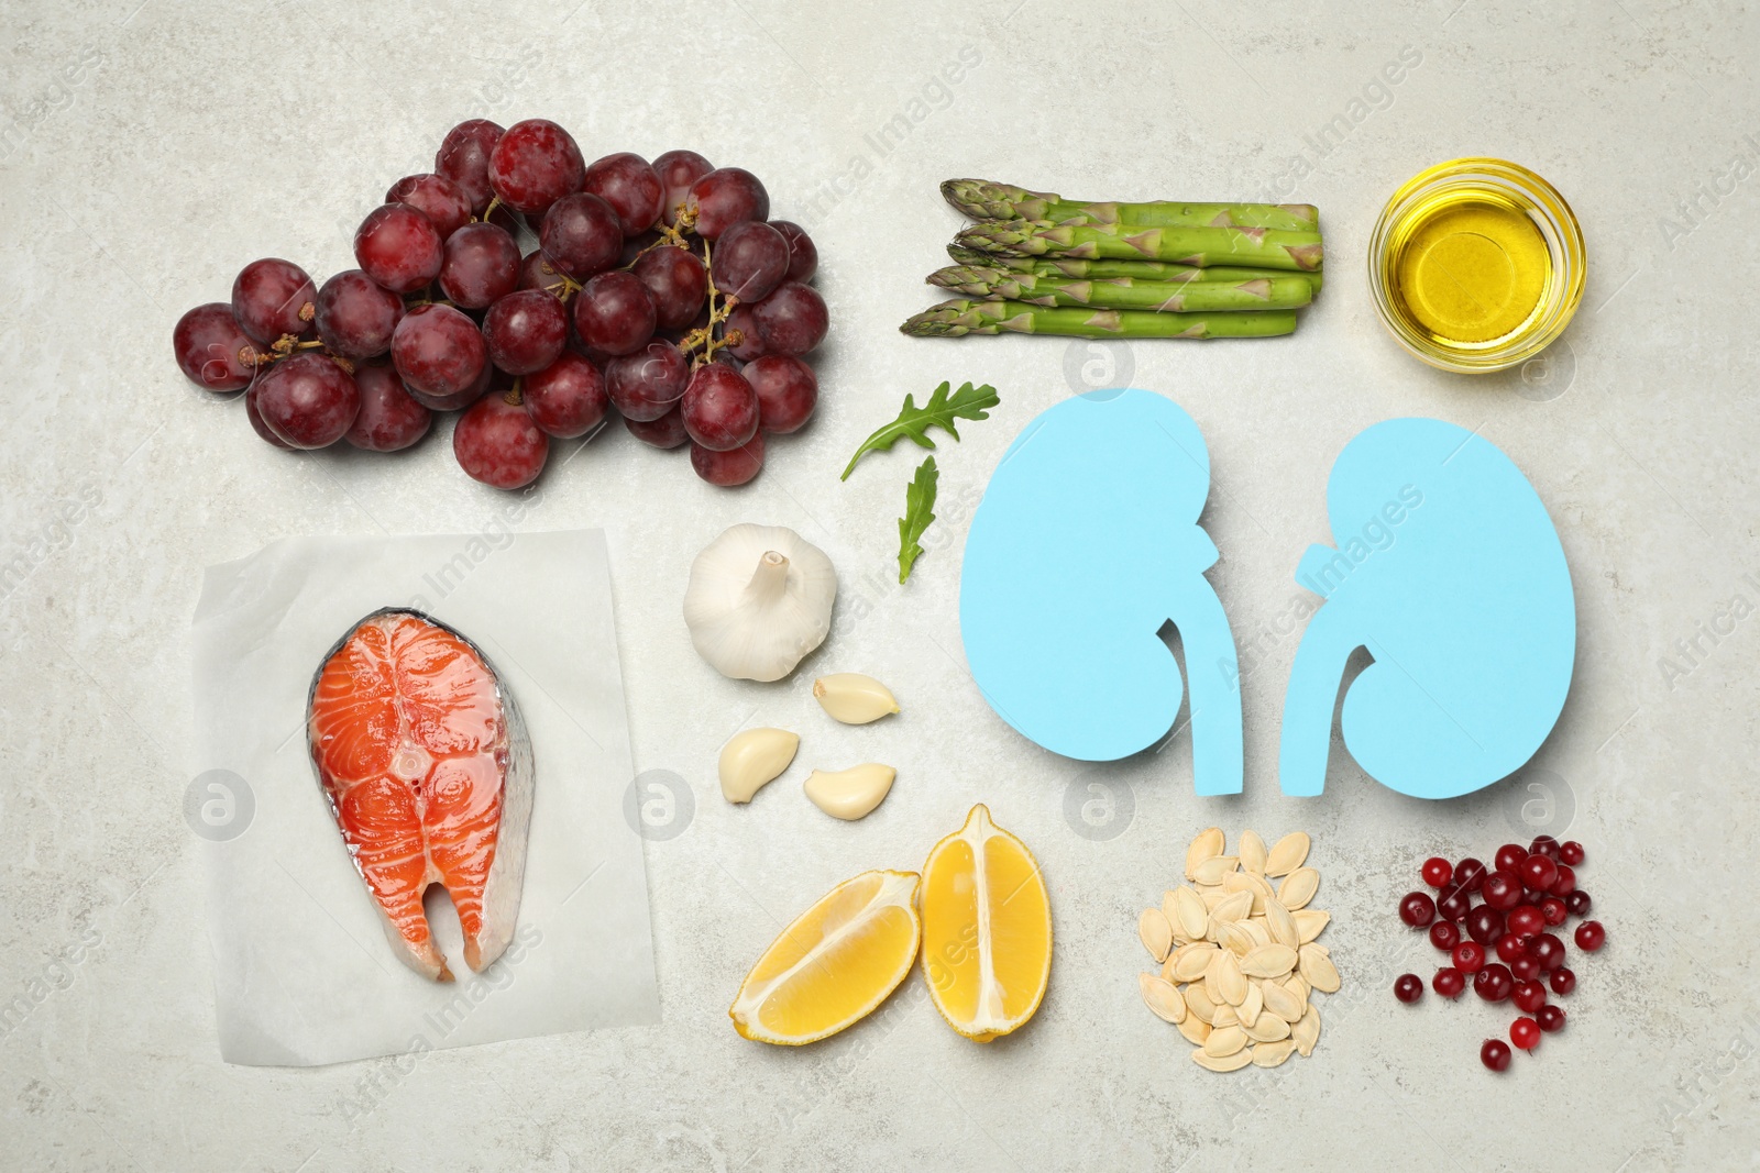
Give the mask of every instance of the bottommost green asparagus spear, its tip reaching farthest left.
M 1295 332 L 1294 310 L 1153 313 L 1148 310 L 1051 310 L 1024 301 L 943 301 L 906 320 L 913 338 L 966 334 L 1061 334 L 1065 338 L 1271 338 Z

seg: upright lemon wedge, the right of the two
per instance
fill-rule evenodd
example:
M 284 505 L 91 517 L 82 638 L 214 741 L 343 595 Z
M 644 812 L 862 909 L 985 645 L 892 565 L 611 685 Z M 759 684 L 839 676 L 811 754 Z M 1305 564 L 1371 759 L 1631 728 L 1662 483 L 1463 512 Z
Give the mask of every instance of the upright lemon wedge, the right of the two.
M 922 865 L 922 976 L 947 1025 L 979 1043 L 1019 1029 L 1045 997 L 1045 881 L 982 802 Z

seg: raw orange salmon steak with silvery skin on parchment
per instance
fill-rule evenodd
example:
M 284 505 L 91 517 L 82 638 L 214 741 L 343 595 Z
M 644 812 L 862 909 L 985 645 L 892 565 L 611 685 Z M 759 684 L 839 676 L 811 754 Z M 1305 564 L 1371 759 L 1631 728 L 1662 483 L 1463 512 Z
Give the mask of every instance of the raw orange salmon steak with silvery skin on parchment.
M 452 628 L 387 607 L 326 656 L 306 698 L 312 765 L 354 869 L 405 965 L 452 971 L 422 911 L 452 897 L 465 964 L 502 955 L 519 916 L 532 742 L 489 659 Z

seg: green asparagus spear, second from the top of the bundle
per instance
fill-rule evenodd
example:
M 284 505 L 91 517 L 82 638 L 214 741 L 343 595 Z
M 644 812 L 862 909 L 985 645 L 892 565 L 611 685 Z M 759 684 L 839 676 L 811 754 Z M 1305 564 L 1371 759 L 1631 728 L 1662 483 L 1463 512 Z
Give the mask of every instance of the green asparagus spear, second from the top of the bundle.
M 957 244 L 1012 257 L 1111 257 L 1184 266 L 1257 266 L 1315 271 L 1324 260 L 1318 232 L 1271 229 L 1139 229 L 1126 223 L 986 220 L 961 229 Z

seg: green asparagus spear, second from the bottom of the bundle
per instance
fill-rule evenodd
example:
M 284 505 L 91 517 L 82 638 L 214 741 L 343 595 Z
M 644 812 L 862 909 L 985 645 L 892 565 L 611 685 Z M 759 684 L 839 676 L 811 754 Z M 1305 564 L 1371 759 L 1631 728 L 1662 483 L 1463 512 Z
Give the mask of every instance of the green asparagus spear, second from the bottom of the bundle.
M 1199 269 L 1199 273 L 1214 273 L 1214 269 Z M 1104 310 L 1155 310 L 1158 313 L 1294 310 L 1313 301 L 1313 288 L 1301 274 L 1262 276 L 1244 281 L 1139 281 L 1128 276 L 1084 280 L 949 266 L 931 273 L 929 283 L 973 297 L 1007 297 L 1035 306 L 1098 306 Z

